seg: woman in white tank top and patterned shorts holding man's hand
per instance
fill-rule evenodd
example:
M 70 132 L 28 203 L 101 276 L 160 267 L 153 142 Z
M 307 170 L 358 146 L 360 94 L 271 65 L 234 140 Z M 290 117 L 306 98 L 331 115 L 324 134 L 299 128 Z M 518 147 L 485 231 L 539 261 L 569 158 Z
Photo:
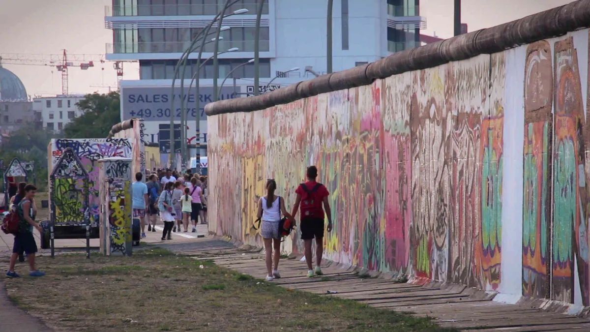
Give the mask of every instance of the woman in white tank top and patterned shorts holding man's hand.
M 264 250 L 266 251 L 267 281 L 281 278 L 278 273 L 278 259 L 281 256 L 281 237 L 278 232 L 278 224 L 281 221 L 281 212 L 283 212 L 283 216 L 293 220 L 291 214 L 285 209 L 283 197 L 274 194 L 276 189 L 276 181 L 268 179 L 266 181 L 266 196 L 260 197 L 258 200 L 258 218 L 262 219 L 260 233 L 264 239 Z

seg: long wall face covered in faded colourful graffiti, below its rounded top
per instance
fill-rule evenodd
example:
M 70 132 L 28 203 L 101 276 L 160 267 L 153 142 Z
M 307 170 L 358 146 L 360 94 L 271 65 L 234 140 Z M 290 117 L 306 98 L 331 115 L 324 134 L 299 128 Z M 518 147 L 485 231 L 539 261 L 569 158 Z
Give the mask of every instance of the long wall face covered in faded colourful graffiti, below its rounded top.
M 589 38 L 210 116 L 209 230 L 261 246 L 266 179 L 290 209 L 316 165 L 334 222 L 327 258 L 589 305 Z M 296 233 L 283 250 L 302 245 Z

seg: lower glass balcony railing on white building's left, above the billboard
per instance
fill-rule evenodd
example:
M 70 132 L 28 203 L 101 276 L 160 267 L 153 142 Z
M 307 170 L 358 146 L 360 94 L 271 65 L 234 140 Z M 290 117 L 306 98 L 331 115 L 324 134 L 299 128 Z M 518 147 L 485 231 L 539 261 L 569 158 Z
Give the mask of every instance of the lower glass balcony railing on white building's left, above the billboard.
M 191 45 L 190 41 L 158 41 L 152 43 L 109 43 L 106 44 L 107 54 L 120 53 L 183 53 Z M 268 40 L 260 41 L 260 51 L 269 51 L 270 42 Z M 228 50 L 230 48 L 240 48 L 240 52 L 254 52 L 253 40 L 232 40 L 219 41 L 219 50 Z M 215 50 L 215 44 L 205 45 L 204 52 L 209 53 Z M 198 51 L 198 50 L 197 50 Z

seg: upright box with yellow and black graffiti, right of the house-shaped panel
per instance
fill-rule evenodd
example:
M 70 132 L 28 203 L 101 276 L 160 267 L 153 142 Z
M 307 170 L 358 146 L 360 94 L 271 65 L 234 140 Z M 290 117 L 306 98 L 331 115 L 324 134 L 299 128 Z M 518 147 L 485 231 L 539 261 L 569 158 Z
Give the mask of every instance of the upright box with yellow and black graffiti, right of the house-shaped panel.
M 103 255 L 132 254 L 131 159 L 99 160 L 100 252 Z

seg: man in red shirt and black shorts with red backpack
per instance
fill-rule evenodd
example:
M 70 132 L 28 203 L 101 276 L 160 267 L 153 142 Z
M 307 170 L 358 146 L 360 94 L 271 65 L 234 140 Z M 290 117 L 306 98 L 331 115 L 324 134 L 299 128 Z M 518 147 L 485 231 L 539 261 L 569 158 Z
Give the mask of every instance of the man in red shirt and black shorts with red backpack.
M 305 260 L 307 262 L 307 276 L 310 278 L 314 275 L 312 269 L 312 240 L 316 239 L 316 255 L 317 265 L 315 274 L 322 275 L 320 264 L 322 263 L 322 254 L 324 251 L 324 210 L 328 218 L 327 231 L 332 231 L 332 210 L 330 210 L 330 203 L 328 195 L 330 194 L 321 183 L 316 182 L 317 167 L 307 167 L 307 182 L 301 183 L 295 193 L 297 198 L 291 215 L 295 217 L 297 209 L 301 205 L 301 239 L 305 243 Z

